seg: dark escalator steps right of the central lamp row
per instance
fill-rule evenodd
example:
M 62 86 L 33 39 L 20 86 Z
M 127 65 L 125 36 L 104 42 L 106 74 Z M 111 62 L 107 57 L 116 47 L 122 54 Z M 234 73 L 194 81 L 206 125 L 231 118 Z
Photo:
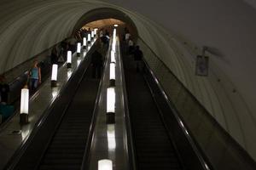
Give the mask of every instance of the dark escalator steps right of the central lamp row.
M 143 74 L 131 56 L 123 61 L 137 169 L 184 169 Z

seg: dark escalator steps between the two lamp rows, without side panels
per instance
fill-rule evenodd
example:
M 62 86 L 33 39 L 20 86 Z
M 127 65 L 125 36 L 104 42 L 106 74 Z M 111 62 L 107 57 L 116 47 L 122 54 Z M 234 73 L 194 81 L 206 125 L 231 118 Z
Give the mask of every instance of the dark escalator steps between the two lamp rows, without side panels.
M 79 169 L 90 129 L 99 80 L 86 71 L 38 169 Z

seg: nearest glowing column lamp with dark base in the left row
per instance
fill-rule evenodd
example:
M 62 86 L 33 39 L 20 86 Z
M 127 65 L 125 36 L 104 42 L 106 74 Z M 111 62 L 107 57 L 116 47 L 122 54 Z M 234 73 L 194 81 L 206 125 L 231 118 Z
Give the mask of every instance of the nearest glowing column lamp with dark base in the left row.
M 22 88 L 20 94 L 20 123 L 28 123 L 29 89 Z

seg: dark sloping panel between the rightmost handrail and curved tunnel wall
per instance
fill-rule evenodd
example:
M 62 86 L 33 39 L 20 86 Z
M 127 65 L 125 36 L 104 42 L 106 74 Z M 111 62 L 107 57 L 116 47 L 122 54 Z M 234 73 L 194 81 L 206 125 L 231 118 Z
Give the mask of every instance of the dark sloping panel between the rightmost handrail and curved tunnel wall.
M 192 134 L 193 139 L 211 162 L 212 169 L 254 169 L 250 164 L 244 163 L 247 157 L 241 155 L 233 140 L 224 138 L 223 129 L 212 121 L 209 113 L 189 93 L 188 89 L 183 87 L 168 67 L 143 41 L 139 39 L 138 44 L 143 49 L 147 64 L 154 70 L 154 76 L 158 77 L 160 85 L 172 105 L 175 105 L 183 124 L 189 129 L 189 134 Z M 176 140 L 179 141 L 178 138 Z M 236 162 L 236 164 L 226 162 Z

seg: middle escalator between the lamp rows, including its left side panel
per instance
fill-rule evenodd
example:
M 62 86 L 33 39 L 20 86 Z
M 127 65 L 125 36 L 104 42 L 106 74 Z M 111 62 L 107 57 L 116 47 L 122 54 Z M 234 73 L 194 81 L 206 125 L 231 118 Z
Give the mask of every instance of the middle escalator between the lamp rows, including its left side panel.
M 82 167 L 101 81 L 92 78 L 88 55 L 4 169 Z

